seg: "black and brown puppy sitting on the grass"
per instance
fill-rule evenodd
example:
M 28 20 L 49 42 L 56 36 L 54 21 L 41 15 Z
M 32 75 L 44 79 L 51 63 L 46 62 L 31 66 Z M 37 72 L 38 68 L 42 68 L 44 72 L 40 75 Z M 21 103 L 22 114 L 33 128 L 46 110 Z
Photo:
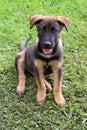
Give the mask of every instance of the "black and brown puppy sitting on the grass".
M 63 27 L 68 27 L 69 20 L 64 16 L 32 16 L 30 28 L 36 25 L 38 39 L 35 44 L 24 48 L 28 39 L 21 44 L 21 51 L 16 56 L 16 68 L 19 84 L 17 93 L 22 95 L 25 90 L 25 71 L 31 73 L 38 86 L 37 102 L 42 104 L 46 100 L 46 89 L 52 90 L 45 77 L 51 73 L 54 76 L 53 94 L 58 105 L 66 103 L 62 94 L 62 64 L 63 47 L 60 33 Z

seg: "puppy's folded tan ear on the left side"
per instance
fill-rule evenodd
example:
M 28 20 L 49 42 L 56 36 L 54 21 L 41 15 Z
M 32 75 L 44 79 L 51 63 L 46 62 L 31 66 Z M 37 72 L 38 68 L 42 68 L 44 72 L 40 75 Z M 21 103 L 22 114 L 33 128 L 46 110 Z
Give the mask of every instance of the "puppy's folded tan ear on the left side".
M 30 18 L 30 29 L 33 27 L 33 25 L 39 24 L 43 20 L 42 15 L 34 15 Z

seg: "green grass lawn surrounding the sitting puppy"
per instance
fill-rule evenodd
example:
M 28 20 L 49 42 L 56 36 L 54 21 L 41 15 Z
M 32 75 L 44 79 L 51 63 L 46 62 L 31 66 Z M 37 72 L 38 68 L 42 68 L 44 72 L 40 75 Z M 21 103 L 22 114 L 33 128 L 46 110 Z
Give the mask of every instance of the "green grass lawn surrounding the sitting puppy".
M 36 83 L 27 77 L 26 93 L 15 93 L 18 78 L 15 54 L 23 39 L 36 37 L 29 29 L 35 14 L 65 15 L 71 23 L 62 31 L 64 43 L 64 107 L 47 94 L 46 104 L 35 101 Z M 53 84 L 52 78 L 49 79 Z M 87 0 L 1 0 L 0 1 L 0 130 L 86 130 L 87 129 Z

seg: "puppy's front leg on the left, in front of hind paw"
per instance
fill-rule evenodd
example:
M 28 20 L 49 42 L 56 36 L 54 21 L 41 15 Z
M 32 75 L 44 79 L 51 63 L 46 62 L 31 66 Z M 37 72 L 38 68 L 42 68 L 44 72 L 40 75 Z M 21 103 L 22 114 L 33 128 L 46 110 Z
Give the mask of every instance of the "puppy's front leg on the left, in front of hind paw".
M 44 63 L 40 60 L 35 62 L 35 79 L 38 86 L 36 101 L 38 104 L 45 103 L 46 100 L 46 86 L 45 86 L 45 78 L 44 78 Z

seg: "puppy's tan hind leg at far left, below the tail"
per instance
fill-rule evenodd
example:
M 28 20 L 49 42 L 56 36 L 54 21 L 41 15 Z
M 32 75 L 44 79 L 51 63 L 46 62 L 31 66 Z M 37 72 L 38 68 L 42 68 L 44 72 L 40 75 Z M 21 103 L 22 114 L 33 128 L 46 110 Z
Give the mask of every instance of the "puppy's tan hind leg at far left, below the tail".
M 24 94 L 25 90 L 25 80 L 26 76 L 24 73 L 24 60 L 25 59 L 25 52 L 19 52 L 16 56 L 16 69 L 18 72 L 18 79 L 19 79 L 19 84 L 17 86 L 16 92 L 19 96 Z

